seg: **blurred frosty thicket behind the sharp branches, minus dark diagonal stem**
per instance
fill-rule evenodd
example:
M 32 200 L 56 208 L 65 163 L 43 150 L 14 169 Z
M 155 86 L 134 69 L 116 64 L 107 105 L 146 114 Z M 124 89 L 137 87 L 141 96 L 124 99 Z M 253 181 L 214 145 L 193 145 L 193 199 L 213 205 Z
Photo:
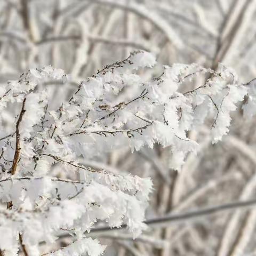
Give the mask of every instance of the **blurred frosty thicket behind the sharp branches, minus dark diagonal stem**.
M 154 53 L 161 65 L 196 62 L 216 69 L 222 62 L 246 83 L 256 77 L 255 9 L 254 0 L 0 0 L 0 86 L 31 67 L 62 68 L 70 81 L 49 82 L 57 107 L 83 79 L 136 49 Z M 154 74 L 158 67 L 142 75 Z M 256 119 L 238 110 L 217 145 L 207 126 L 189 134 L 201 147 L 180 172 L 169 167 L 170 149 L 157 145 L 133 154 L 128 147 L 111 151 L 84 164 L 151 177 L 147 218 L 252 199 Z M 106 255 L 256 255 L 255 227 L 256 210 L 250 209 L 155 226 L 136 241 L 125 231 L 94 236 L 109 245 Z

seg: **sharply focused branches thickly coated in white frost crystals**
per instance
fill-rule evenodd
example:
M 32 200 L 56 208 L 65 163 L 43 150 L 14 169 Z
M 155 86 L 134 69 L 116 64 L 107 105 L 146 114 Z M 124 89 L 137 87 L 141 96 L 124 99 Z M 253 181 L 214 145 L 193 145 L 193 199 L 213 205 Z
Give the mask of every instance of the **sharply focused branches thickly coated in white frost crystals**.
M 2 255 L 15 255 L 20 246 L 26 255 L 39 255 L 41 242 L 68 232 L 74 241 L 49 254 L 98 256 L 105 246 L 86 233 L 99 221 L 126 225 L 136 238 L 146 228 L 150 178 L 92 169 L 83 159 L 159 144 L 170 147 L 170 166 L 180 170 L 198 148 L 190 131 L 206 123 L 212 142 L 221 140 L 247 92 L 244 111 L 254 114 L 255 83 L 239 83 L 232 69 L 174 64 L 157 77 L 140 75 L 155 65 L 150 53 L 132 52 L 82 81 L 57 109 L 49 99 L 52 81 L 69 79 L 61 69 L 30 69 L 1 87 Z M 182 91 L 202 74 L 208 76 L 202 85 Z M 6 117 L 7 109 L 16 114 Z

